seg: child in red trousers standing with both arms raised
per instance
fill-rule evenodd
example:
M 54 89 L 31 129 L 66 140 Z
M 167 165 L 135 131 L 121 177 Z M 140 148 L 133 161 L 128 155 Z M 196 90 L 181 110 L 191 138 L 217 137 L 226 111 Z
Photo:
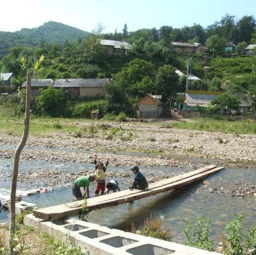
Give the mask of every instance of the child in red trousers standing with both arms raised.
M 106 159 L 105 164 L 102 162 L 99 162 L 97 164 L 97 154 L 94 156 L 94 166 L 95 166 L 95 175 L 96 175 L 96 181 L 97 181 L 97 186 L 94 191 L 95 195 L 98 195 L 101 190 L 101 195 L 104 194 L 105 191 L 105 173 L 106 173 L 106 168 L 109 164 L 109 158 Z

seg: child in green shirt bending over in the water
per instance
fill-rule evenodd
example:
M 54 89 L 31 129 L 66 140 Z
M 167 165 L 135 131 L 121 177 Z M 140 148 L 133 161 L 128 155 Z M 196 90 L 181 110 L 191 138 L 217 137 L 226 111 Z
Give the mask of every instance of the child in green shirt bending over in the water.
M 89 185 L 90 182 L 93 182 L 95 179 L 95 175 L 80 176 L 79 178 L 75 179 L 75 182 L 72 184 L 72 192 L 77 200 L 82 200 L 82 198 L 90 198 Z M 84 196 L 82 196 L 80 187 L 84 188 Z

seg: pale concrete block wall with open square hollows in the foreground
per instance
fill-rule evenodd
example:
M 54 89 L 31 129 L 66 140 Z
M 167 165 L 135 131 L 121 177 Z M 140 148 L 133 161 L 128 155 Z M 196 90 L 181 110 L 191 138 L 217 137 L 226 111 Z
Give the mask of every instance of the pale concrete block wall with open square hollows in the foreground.
M 90 255 L 219 255 L 76 219 L 44 221 L 30 214 L 24 217 L 24 224 L 37 231 L 59 236 L 67 243 L 80 246 Z

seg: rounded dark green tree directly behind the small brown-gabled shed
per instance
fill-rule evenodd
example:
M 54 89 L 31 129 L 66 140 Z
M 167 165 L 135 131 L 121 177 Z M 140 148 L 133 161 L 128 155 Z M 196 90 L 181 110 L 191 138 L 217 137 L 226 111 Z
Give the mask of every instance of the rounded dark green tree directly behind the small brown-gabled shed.
M 158 69 L 155 78 L 155 93 L 162 95 L 162 101 L 166 102 L 179 90 L 179 76 L 172 65 L 164 65 Z

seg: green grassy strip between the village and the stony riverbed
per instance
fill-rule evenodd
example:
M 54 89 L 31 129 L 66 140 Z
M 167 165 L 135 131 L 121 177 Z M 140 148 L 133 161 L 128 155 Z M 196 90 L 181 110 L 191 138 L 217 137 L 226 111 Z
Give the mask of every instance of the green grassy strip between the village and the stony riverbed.
M 111 120 L 89 120 L 89 119 L 64 119 L 64 118 L 49 118 L 36 117 L 31 115 L 30 135 L 48 137 L 51 133 L 66 133 L 67 135 L 82 136 L 86 133 L 98 132 L 98 124 L 102 122 L 110 122 Z M 80 123 L 80 124 L 76 124 Z M 87 128 L 81 125 L 87 124 Z M 95 123 L 95 124 L 92 124 Z M 91 126 L 89 124 L 92 124 Z M 143 123 L 136 123 L 143 125 Z M 171 127 L 176 129 L 199 130 L 208 132 L 223 132 L 234 134 L 256 134 L 256 122 L 251 119 L 240 121 L 228 121 L 217 119 L 193 119 L 183 122 L 155 122 L 147 123 L 154 127 Z M 0 132 L 9 135 L 20 135 L 23 131 L 23 118 L 11 114 L 9 108 L 0 106 Z M 111 135 L 111 134 L 110 134 Z

